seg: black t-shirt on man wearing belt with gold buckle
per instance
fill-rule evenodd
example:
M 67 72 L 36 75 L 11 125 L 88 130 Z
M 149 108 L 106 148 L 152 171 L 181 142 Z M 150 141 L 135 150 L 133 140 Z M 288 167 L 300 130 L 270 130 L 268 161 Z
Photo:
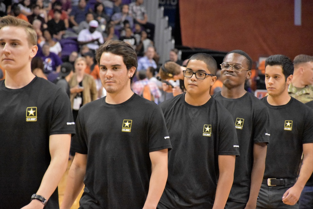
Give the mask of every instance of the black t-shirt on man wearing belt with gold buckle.
M 313 143 L 313 110 L 291 97 L 285 105 L 269 107 L 270 143 L 264 178 L 297 178 L 302 144 Z

